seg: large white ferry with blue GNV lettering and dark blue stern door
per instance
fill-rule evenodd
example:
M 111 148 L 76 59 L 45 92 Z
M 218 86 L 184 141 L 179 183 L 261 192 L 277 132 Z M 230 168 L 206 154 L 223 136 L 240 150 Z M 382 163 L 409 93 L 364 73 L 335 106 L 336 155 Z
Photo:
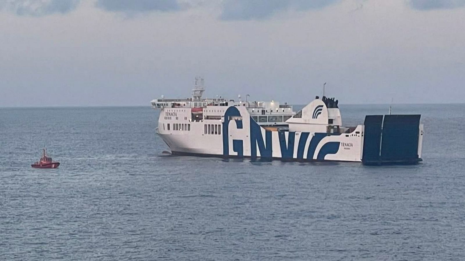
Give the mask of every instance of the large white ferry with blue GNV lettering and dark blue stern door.
M 173 155 L 252 160 L 417 164 L 421 159 L 420 115 L 367 115 L 344 126 L 339 101 L 316 98 L 302 110 L 278 102 L 202 98 L 196 79 L 187 99 L 155 99 L 157 134 Z

